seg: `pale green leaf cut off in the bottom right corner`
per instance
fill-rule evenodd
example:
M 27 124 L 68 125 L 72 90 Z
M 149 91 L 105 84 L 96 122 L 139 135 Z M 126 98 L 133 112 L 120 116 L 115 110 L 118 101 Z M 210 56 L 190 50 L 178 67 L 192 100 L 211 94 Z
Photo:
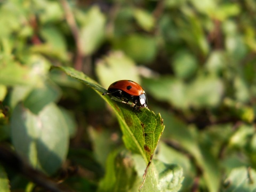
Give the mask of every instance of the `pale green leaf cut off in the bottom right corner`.
M 238 167 L 233 169 L 223 183 L 225 192 L 250 192 L 256 190 L 256 171 L 251 168 Z

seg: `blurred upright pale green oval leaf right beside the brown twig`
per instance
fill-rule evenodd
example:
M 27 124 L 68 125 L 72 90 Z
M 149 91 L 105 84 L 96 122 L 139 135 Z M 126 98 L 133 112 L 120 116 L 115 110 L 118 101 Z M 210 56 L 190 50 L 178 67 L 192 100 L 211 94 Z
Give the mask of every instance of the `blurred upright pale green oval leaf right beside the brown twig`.
M 81 27 L 81 49 L 83 54 L 90 55 L 98 49 L 105 38 L 106 17 L 98 6 L 92 6 L 85 15 Z

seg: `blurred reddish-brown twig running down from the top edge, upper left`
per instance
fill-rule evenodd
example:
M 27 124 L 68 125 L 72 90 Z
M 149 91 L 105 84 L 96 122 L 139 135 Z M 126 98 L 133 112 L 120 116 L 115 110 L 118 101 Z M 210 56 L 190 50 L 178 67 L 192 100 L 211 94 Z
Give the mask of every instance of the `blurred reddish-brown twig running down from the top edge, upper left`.
M 68 2 L 66 0 L 61 0 L 60 2 L 65 12 L 65 18 L 67 20 L 68 26 L 76 42 L 77 50 L 76 50 L 76 59 L 75 59 L 75 69 L 82 70 L 83 53 L 82 53 L 79 29 L 77 27 L 76 20 L 74 18 L 74 15 L 72 13 L 72 10 L 70 9 Z

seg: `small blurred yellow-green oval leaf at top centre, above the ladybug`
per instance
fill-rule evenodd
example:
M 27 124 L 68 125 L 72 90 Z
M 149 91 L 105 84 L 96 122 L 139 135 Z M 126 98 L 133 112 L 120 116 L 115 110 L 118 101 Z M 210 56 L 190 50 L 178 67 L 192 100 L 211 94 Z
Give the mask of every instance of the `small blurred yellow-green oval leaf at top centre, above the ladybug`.
M 153 14 L 148 13 L 146 10 L 135 9 L 134 17 L 140 27 L 146 31 L 152 30 L 155 26 L 155 18 Z

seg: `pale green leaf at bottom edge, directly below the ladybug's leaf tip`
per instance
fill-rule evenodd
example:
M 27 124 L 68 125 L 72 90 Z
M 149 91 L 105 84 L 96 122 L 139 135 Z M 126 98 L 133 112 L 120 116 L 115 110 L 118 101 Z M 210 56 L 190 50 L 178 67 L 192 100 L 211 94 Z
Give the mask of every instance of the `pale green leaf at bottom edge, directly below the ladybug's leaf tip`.
M 153 160 L 140 191 L 179 191 L 183 179 L 181 167 Z

